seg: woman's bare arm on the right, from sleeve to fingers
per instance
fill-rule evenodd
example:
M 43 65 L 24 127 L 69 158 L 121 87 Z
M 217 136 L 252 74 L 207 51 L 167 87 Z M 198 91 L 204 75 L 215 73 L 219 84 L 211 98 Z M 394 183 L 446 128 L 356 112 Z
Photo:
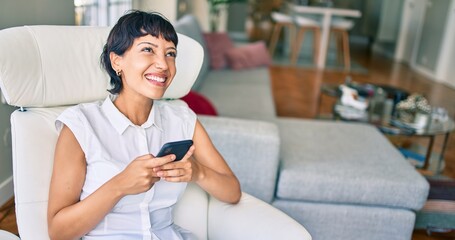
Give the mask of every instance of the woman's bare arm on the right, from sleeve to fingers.
M 194 147 L 182 161 L 157 169 L 157 175 L 167 181 L 194 181 L 218 200 L 237 203 L 241 197 L 240 183 L 199 120 L 196 121 L 193 142 Z M 192 150 L 194 158 L 189 160 Z M 176 170 L 179 168 L 184 170 Z M 188 179 L 185 177 L 186 173 L 190 175 Z

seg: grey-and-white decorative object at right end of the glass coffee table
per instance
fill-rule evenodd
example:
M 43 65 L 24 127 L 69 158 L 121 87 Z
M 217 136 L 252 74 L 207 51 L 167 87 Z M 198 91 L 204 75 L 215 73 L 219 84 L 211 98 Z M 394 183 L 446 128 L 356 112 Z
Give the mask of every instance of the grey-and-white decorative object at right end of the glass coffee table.
M 397 120 L 416 129 L 427 126 L 430 116 L 431 106 L 421 94 L 412 94 L 396 105 Z

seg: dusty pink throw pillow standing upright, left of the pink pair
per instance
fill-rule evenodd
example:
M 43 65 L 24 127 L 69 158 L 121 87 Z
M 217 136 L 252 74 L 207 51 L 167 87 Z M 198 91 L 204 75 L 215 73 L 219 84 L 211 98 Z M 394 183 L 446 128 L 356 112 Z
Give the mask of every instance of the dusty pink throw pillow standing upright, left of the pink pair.
M 222 69 L 227 67 L 224 54 L 234 47 L 227 33 L 204 33 L 204 40 L 209 52 L 210 67 Z

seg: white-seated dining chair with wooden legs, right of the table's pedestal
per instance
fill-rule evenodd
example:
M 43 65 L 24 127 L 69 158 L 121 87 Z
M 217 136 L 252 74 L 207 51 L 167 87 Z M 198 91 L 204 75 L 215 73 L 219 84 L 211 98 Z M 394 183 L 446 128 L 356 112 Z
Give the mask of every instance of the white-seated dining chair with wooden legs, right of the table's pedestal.
M 335 37 L 337 46 L 337 60 L 341 62 L 343 56 L 344 68 L 351 69 L 351 54 L 349 48 L 349 30 L 354 27 L 354 21 L 337 18 L 331 22 L 330 33 Z

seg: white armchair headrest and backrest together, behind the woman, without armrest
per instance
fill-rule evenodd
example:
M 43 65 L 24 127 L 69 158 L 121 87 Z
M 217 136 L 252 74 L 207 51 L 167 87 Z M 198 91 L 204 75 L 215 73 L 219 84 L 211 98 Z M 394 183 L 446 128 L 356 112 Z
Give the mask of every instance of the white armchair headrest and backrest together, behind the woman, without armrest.
M 25 108 L 11 115 L 16 217 L 22 239 L 48 239 L 54 121 L 66 107 L 108 94 L 109 77 L 99 58 L 109 30 L 24 26 L 0 31 L 0 88 L 8 104 Z M 163 98 L 186 95 L 202 65 L 202 47 L 193 39 L 179 34 L 177 51 L 177 74 Z

